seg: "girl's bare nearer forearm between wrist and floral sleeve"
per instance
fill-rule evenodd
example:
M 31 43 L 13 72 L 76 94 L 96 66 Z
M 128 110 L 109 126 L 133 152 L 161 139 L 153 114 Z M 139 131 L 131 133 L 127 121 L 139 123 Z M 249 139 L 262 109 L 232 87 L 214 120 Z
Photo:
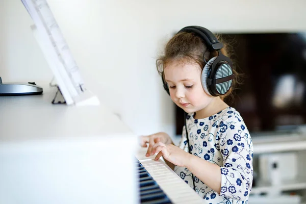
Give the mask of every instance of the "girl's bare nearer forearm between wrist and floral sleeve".
M 188 168 L 193 176 L 196 176 L 199 180 L 205 183 L 214 191 L 220 194 L 221 190 L 221 170 L 217 164 L 210 163 L 197 156 L 190 155 L 186 162 L 186 168 Z

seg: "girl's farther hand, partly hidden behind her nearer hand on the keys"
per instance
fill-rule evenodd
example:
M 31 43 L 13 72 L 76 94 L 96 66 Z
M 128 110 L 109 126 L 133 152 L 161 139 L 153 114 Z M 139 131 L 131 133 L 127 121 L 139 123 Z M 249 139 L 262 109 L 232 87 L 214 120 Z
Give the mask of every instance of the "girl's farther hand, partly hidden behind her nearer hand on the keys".
M 147 157 L 151 155 L 152 146 L 156 144 L 157 142 L 163 142 L 165 144 L 173 143 L 170 136 L 167 133 L 163 133 L 163 132 L 155 133 L 155 134 L 148 135 L 148 136 L 140 136 L 139 140 L 140 140 L 140 146 L 142 147 L 146 147 L 147 143 L 149 143 L 148 150 L 145 155 Z

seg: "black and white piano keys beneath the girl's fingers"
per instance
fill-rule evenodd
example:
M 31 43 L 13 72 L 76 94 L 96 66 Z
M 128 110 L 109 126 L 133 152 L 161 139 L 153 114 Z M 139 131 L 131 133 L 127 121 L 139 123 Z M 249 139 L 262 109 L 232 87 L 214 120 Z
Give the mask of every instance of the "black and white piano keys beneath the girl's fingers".
M 141 148 L 136 155 L 141 203 L 203 203 L 164 161 L 154 161 L 155 155 L 145 157 L 145 153 L 146 148 Z

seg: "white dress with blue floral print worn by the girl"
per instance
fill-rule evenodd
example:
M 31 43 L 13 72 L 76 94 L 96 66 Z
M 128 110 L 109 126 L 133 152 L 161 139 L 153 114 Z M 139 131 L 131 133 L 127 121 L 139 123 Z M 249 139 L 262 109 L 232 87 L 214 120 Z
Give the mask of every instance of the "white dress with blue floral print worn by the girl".
M 253 179 L 252 140 L 239 112 L 228 107 L 203 119 L 187 115 L 191 154 L 221 169 L 220 195 L 194 176 L 196 192 L 207 203 L 247 203 Z M 188 152 L 185 126 L 180 148 Z M 193 188 L 191 172 L 175 166 L 174 171 Z

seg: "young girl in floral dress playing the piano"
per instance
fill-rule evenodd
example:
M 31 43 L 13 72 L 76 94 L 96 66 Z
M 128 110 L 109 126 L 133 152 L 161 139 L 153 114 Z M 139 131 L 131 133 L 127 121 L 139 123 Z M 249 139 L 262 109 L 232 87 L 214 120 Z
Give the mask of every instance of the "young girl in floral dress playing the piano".
M 155 160 L 163 156 L 207 203 L 247 203 L 253 177 L 252 141 L 239 112 L 223 101 L 231 94 L 235 79 L 226 94 L 216 96 L 208 91 L 209 79 L 201 77 L 202 71 L 209 71 L 226 50 L 220 44 L 210 48 L 215 36 L 206 39 L 199 35 L 192 29 L 177 33 L 157 60 L 165 89 L 188 113 L 179 147 L 166 133 L 142 136 L 141 145 L 149 144 L 146 156 L 157 152 Z

